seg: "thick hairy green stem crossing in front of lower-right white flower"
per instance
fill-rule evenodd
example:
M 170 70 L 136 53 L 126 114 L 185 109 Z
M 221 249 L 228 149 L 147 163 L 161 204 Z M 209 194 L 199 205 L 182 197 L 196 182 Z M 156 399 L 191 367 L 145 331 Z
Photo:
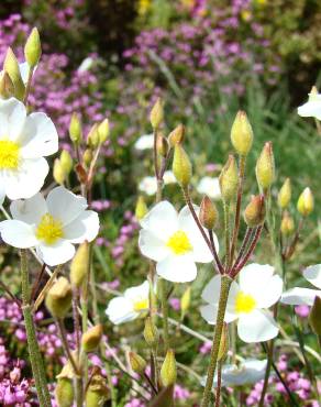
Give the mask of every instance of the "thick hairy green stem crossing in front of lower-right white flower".
M 218 363 L 218 355 L 220 350 L 220 342 L 223 331 L 224 324 L 224 315 L 228 305 L 229 292 L 232 284 L 232 279 L 228 275 L 223 275 L 221 277 L 221 292 L 220 292 L 220 300 L 219 300 L 219 309 L 218 309 L 218 317 L 217 317 L 217 326 L 214 329 L 214 337 L 213 343 L 210 354 L 210 364 L 208 369 L 208 376 L 206 388 L 202 396 L 201 407 L 208 407 L 211 397 L 211 391 L 213 385 L 213 378 L 215 374 L 215 367 Z

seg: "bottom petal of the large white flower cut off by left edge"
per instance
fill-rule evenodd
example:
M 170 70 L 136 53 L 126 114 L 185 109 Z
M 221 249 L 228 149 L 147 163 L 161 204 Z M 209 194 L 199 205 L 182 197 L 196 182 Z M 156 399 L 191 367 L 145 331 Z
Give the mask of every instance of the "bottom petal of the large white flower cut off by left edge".
M 44 185 L 49 166 L 45 158 L 23 160 L 19 169 L 2 173 L 5 194 L 11 200 L 31 198 Z

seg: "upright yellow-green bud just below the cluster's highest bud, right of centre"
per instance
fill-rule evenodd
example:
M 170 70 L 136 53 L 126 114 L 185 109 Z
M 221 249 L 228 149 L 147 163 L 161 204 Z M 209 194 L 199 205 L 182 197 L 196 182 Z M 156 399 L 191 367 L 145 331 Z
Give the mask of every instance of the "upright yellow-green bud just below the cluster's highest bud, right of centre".
M 236 196 L 239 186 L 237 165 L 232 154 L 229 155 L 229 160 L 221 172 L 219 183 L 223 200 L 226 204 L 231 202 Z

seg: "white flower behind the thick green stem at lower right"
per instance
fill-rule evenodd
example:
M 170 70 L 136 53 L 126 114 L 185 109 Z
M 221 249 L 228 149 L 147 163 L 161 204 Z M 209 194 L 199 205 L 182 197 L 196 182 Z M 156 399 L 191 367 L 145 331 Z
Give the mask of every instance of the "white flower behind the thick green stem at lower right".
M 209 305 L 201 307 L 202 317 L 212 324 L 217 323 L 221 287 L 221 276 L 213 277 L 202 292 Z M 274 268 L 256 263 L 248 264 L 240 273 L 240 284 L 232 282 L 224 321 L 237 319 L 239 337 L 247 343 L 263 342 L 275 338 L 278 327 L 269 308 L 279 299 L 283 280 L 274 275 Z

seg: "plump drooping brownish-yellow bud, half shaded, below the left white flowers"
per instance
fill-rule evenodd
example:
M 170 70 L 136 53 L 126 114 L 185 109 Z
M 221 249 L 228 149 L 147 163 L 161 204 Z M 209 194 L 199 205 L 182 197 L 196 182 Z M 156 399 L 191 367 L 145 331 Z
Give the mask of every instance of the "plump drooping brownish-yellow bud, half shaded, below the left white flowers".
M 59 277 L 49 288 L 45 304 L 54 318 L 63 319 L 71 306 L 71 286 L 67 278 Z

